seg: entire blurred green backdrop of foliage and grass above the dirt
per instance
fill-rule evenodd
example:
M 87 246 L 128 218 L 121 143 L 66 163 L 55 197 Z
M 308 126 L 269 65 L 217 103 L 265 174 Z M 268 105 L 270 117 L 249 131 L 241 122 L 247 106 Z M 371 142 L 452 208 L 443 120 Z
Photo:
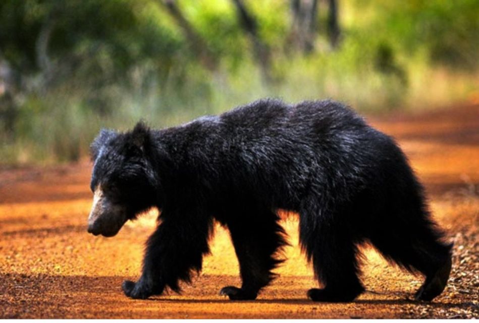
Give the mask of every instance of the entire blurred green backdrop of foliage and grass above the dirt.
M 307 56 L 290 50 L 288 0 L 245 0 L 271 50 L 270 83 L 231 0 L 177 1 L 218 62 L 214 71 L 161 2 L 0 2 L 0 68 L 14 75 L 10 92 L 0 90 L 3 163 L 77 160 L 100 127 L 172 126 L 263 96 L 332 97 L 381 112 L 463 99 L 477 87 L 476 0 L 339 0 L 334 50 L 320 2 Z

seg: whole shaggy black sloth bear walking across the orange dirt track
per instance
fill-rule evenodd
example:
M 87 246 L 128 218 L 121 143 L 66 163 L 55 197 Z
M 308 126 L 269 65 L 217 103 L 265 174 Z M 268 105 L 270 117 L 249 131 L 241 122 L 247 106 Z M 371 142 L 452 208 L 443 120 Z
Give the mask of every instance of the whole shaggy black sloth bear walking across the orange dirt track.
M 201 270 L 218 221 L 242 279 L 220 294 L 255 299 L 283 261 L 278 209 L 299 214 L 300 243 L 323 286 L 307 292 L 313 301 L 348 302 L 364 291 L 361 243 L 425 276 L 417 300 L 438 296 L 449 278 L 451 245 L 405 155 L 341 103 L 263 99 L 163 130 L 140 122 L 125 133 L 102 130 L 91 155 L 89 233 L 111 237 L 137 214 L 161 210 L 141 277 L 122 285 L 131 298 L 179 292 L 179 281 Z

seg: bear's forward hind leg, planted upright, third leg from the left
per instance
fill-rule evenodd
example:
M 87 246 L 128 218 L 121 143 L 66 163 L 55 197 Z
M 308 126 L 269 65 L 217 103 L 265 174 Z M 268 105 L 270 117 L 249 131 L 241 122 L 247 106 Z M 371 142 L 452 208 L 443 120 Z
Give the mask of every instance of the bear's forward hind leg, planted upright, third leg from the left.
M 300 242 L 315 277 L 325 287 L 312 288 L 307 296 L 318 302 L 353 301 L 364 291 L 358 278 L 356 245 L 347 229 L 334 221 L 338 217 L 320 223 L 320 219 L 312 220 L 314 216 L 301 213 Z

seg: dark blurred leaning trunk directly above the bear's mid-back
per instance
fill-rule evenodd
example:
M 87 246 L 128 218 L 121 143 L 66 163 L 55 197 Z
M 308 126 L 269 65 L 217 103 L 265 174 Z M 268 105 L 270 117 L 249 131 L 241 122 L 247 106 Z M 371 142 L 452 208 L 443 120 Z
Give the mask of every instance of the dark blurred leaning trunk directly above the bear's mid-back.
M 241 26 L 253 44 L 254 59 L 261 68 L 263 78 L 266 81 L 271 81 L 271 52 L 268 45 L 259 37 L 257 21 L 253 15 L 248 12 L 242 0 L 232 1 L 236 7 Z

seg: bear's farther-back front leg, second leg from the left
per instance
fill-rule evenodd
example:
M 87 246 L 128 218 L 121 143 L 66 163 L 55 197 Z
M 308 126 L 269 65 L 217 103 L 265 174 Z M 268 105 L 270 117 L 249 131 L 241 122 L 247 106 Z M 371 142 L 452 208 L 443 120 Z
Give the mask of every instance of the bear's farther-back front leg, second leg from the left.
M 253 300 L 274 278 L 271 272 L 283 260 L 275 258 L 285 245 L 285 231 L 278 215 L 268 209 L 244 210 L 227 222 L 240 265 L 241 288 L 227 286 L 220 295 L 231 300 Z

